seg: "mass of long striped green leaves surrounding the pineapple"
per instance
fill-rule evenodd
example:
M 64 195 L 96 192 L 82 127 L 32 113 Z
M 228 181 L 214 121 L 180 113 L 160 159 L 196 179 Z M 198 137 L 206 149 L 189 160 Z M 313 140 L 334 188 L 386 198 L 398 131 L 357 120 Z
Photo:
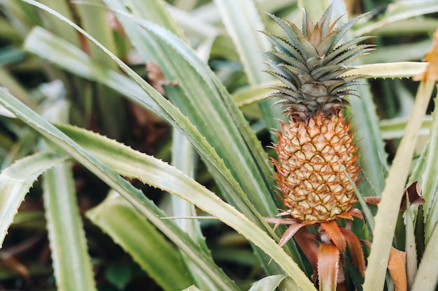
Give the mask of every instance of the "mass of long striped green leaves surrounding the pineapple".
M 338 268 L 316 263 L 315 227 L 278 246 L 288 225 L 269 225 L 287 117 L 264 98 L 279 83 L 260 31 L 281 29 L 263 12 L 299 24 L 329 5 L 1 0 L 1 286 L 335 290 L 344 274 L 346 290 L 435 290 L 436 0 L 334 1 L 340 23 L 370 11 L 343 40 L 377 47 L 344 112 L 363 220 L 325 225 Z

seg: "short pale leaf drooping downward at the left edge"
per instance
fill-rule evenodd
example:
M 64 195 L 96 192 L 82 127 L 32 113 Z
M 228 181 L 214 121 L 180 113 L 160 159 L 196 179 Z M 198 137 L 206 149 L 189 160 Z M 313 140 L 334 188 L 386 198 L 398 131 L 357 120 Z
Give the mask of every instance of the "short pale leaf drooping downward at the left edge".
M 38 176 L 68 156 L 41 152 L 22 158 L 0 173 L 0 246 L 18 207 Z

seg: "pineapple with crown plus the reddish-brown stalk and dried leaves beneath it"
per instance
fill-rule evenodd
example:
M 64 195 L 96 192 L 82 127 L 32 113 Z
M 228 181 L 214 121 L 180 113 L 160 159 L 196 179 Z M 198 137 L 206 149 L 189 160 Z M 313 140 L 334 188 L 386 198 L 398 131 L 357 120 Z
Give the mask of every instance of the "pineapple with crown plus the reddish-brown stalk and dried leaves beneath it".
M 285 38 L 264 31 L 275 50 L 264 52 L 269 59 L 267 71 L 283 84 L 272 86 L 279 97 L 276 104 L 284 107 L 289 121 L 276 130 L 278 142 L 273 144 L 278 160 L 276 180 L 285 209 L 269 223 L 290 225 L 278 244 L 295 241 L 313 267 L 315 284 L 320 290 L 336 290 L 346 286 L 344 263 L 347 245 L 351 259 L 362 278 L 365 257 L 358 237 L 337 218 L 363 218 L 352 209 L 360 182 L 358 149 L 353 140 L 351 122 L 344 117 L 346 96 L 355 96 L 353 85 L 361 75 L 346 75 L 351 63 L 373 50 L 373 45 L 359 45 L 367 36 L 339 44 L 342 36 L 357 22 L 355 17 L 345 24 L 330 22 L 333 4 L 313 23 L 304 10 L 302 30 L 292 22 L 270 15 L 285 32 Z M 311 232 L 306 225 L 315 225 Z

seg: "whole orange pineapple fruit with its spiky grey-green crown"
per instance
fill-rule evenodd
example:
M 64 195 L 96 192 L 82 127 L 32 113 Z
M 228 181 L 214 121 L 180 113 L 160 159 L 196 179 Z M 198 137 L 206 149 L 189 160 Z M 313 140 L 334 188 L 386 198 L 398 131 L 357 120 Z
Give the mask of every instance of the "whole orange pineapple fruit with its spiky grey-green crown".
M 359 17 L 335 27 L 330 24 L 333 6 L 313 24 L 304 11 L 302 30 L 270 15 L 285 32 L 285 38 L 263 31 L 275 50 L 263 54 L 267 64 L 283 83 L 273 86 L 270 96 L 285 109 L 289 122 L 276 130 L 274 149 L 278 189 L 295 221 L 324 223 L 346 214 L 355 202 L 352 181 L 358 181 L 360 167 L 351 124 L 344 117 L 345 99 L 356 95 L 351 86 L 359 84 L 360 75 L 343 76 L 355 59 L 372 50 L 372 45 L 358 45 L 368 37 L 358 37 L 338 45 L 344 33 Z

